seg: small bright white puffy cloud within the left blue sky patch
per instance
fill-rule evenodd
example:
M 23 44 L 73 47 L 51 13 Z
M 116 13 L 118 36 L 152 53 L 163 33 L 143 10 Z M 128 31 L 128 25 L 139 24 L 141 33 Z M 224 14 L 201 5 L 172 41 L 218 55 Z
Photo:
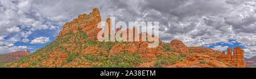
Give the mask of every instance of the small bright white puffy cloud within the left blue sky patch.
M 49 42 L 49 38 L 40 37 L 32 40 L 30 44 L 46 44 L 48 42 Z

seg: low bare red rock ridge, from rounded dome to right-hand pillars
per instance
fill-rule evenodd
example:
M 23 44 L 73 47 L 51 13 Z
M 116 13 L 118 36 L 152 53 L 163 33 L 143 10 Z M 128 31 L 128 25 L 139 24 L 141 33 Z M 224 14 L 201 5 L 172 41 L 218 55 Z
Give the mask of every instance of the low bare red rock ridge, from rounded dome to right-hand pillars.
M 187 47 L 180 40 L 172 40 L 170 47 L 176 49 L 178 53 L 184 53 L 187 55 L 187 59 L 184 61 L 168 66 L 168 67 L 181 67 L 181 68 L 194 68 L 203 67 L 208 68 L 210 66 L 222 68 L 222 67 L 232 67 L 232 68 L 247 68 L 245 64 L 245 59 L 243 56 L 243 50 L 241 47 L 234 48 L 232 55 L 232 49 L 228 48 L 228 53 L 215 51 L 210 48 L 204 47 Z M 189 53 L 189 51 L 191 51 Z M 217 59 L 217 61 L 216 61 Z M 199 64 L 199 60 L 205 60 L 207 64 Z M 222 63 L 221 63 L 222 62 Z

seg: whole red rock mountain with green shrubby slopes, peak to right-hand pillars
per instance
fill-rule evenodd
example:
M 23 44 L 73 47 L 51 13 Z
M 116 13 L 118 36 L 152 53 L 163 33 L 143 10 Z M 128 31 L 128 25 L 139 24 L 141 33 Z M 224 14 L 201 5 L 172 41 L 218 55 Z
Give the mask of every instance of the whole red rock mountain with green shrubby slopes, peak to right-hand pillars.
M 55 41 L 42 49 L 36 50 L 34 54 L 26 56 L 26 60 L 6 64 L 6 67 L 247 67 L 243 60 L 243 50 L 240 47 L 234 48 L 233 55 L 230 48 L 226 54 L 211 48 L 187 47 L 180 40 L 172 40 L 171 43 L 163 43 L 159 40 L 158 47 L 148 48 L 148 44 L 151 42 L 145 41 L 147 38 L 145 35 L 148 35 L 146 32 L 139 34 L 137 28 L 127 30 L 117 28 L 115 34 L 112 30 L 112 21 L 108 18 L 105 25 L 109 27 L 105 26 L 104 30 L 108 31 L 109 34 L 106 34 L 106 32 L 101 31 L 101 28 L 97 28 L 100 22 L 101 16 L 98 9 L 93 9 L 93 12 L 89 15 L 79 15 L 79 18 L 63 26 L 63 30 L 60 31 Z M 133 32 L 131 32 L 132 30 Z M 119 35 L 119 33 L 121 34 Z M 102 40 L 102 38 L 97 39 L 97 35 L 101 34 L 110 37 L 119 35 L 121 39 L 139 41 L 101 42 L 99 40 Z M 139 38 L 135 38 L 135 36 Z M 112 38 L 109 40 L 114 40 Z

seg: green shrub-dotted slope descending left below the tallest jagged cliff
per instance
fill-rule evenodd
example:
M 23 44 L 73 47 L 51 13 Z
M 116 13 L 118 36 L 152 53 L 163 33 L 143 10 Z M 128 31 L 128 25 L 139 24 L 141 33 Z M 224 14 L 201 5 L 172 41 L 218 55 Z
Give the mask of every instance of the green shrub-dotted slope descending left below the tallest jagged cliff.
M 38 49 L 36 52 L 32 53 L 10 64 L 6 64 L 2 67 L 20 67 L 23 64 L 29 64 L 28 68 L 42 68 L 42 67 L 49 67 L 44 66 L 43 63 L 50 59 L 51 55 L 56 55 L 58 53 L 55 52 L 65 52 L 64 55 L 67 56 L 67 59 L 61 63 L 61 65 L 56 65 L 55 67 L 63 67 L 68 64 L 72 64 L 74 62 L 77 65 L 85 65 L 89 63 L 91 66 L 88 67 L 101 67 L 101 68 L 112 68 L 112 67 L 121 67 L 121 68 L 132 68 L 136 67 L 139 63 L 143 63 L 141 55 L 138 53 L 127 54 L 124 51 L 122 54 L 118 55 L 111 55 L 109 56 L 109 51 L 112 49 L 113 45 L 117 42 L 98 42 L 96 40 L 89 40 L 87 35 L 79 31 L 76 34 L 70 32 L 62 36 L 59 39 L 56 39 L 51 44 L 48 44 L 46 47 Z M 128 43 L 128 42 L 122 42 Z M 101 50 L 97 50 L 99 55 L 92 55 L 92 54 L 85 54 L 82 55 L 82 49 L 86 49 L 93 46 L 98 46 Z M 108 53 L 103 53 L 102 51 L 108 51 Z M 57 60 L 60 60 L 63 55 L 57 55 L 52 62 L 55 64 Z M 68 66 L 68 67 L 77 67 L 77 65 Z

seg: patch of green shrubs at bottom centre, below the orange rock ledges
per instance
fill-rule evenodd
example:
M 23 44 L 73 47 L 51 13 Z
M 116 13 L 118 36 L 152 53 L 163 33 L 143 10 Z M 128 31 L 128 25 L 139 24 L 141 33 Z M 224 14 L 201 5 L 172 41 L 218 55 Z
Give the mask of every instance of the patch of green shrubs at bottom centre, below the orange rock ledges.
M 133 54 L 118 54 L 118 55 L 112 55 L 109 57 L 101 57 L 101 56 L 90 56 L 85 55 L 84 57 L 87 58 L 94 58 L 88 59 L 91 61 L 96 61 L 96 64 L 93 64 L 91 67 L 97 67 L 97 68 L 133 68 L 136 67 L 139 63 L 143 63 L 141 55 L 138 53 Z M 97 59 L 98 58 L 98 59 Z

